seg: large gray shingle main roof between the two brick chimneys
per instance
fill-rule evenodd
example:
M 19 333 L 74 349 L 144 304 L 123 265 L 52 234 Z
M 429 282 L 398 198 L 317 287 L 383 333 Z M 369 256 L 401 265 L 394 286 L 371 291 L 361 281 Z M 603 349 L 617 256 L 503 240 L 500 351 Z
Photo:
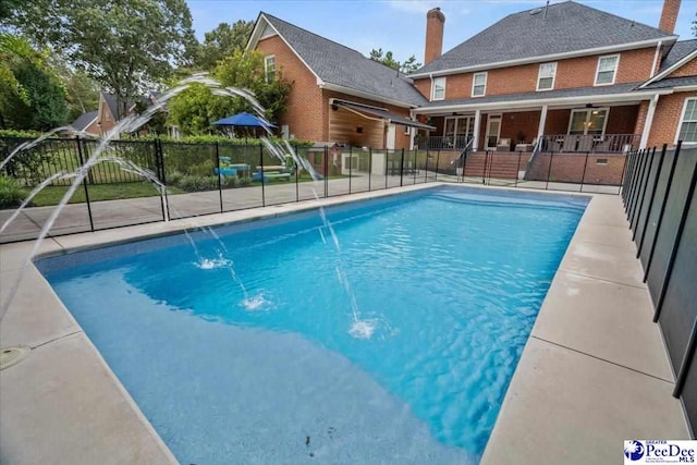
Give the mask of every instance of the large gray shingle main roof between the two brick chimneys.
M 416 71 L 416 74 L 486 65 L 598 47 L 671 37 L 662 30 L 573 1 L 537 14 L 511 14 Z

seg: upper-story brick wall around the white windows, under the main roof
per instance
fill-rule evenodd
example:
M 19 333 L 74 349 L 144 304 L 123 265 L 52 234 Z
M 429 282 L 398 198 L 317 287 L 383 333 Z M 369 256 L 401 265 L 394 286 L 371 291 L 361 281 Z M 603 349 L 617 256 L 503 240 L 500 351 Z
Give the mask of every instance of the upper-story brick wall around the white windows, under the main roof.
M 651 75 L 655 47 L 639 50 L 626 50 L 620 53 L 620 68 L 615 84 L 646 81 Z M 604 56 L 604 54 L 602 54 Z M 572 58 L 557 62 L 554 89 L 592 87 L 600 54 Z M 505 95 L 535 91 L 539 63 L 489 70 L 487 73 L 487 94 Z M 472 97 L 472 76 L 463 73 L 447 76 L 445 99 Z M 416 79 L 416 87 L 426 97 L 430 97 L 430 78 Z M 543 93 L 540 93 L 543 95 Z

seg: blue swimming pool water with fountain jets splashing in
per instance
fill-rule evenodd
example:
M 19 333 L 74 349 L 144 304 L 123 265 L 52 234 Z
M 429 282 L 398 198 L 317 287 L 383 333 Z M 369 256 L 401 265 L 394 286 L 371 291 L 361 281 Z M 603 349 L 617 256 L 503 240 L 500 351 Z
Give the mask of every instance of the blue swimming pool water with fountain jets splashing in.
M 328 209 L 339 248 L 310 211 L 37 265 L 182 463 L 477 463 L 586 203 L 439 187 Z

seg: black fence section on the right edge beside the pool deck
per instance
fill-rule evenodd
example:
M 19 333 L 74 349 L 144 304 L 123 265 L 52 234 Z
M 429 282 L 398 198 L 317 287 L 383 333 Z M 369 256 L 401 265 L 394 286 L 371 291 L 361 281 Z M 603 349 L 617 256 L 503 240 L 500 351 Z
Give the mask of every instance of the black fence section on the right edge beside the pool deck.
M 622 188 L 644 281 L 683 400 L 697 429 L 697 148 L 629 154 Z

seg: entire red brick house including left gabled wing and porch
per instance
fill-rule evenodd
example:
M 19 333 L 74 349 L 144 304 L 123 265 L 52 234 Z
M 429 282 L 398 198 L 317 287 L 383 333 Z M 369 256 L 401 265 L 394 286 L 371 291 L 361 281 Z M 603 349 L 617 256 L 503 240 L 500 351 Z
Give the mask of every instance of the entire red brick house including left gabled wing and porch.
M 408 76 L 267 13 L 247 49 L 293 82 L 285 136 L 408 148 L 421 130 L 433 148 L 531 150 L 541 140 L 547 150 L 622 152 L 697 143 L 697 40 L 673 34 L 680 3 L 664 1 L 658 28 L 551 4 L 442 56 L 445 17 L 433 9 L 425 65 Z

